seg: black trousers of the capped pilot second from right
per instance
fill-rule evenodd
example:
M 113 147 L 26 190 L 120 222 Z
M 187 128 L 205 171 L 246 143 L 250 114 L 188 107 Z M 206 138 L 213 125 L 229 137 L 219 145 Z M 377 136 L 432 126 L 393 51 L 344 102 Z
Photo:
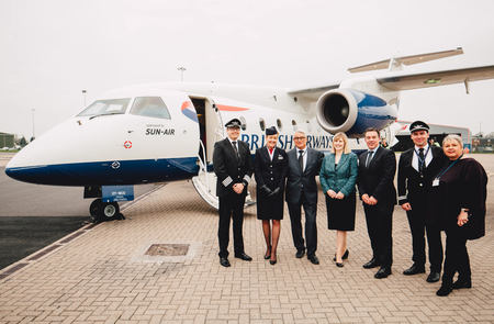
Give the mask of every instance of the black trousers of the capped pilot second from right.
M 406 216 L 412 232 L 412 260 L 418 266 L 425 265 L 425 235 L 427 235 L 430 271 L 440 272 L 442 265 L 441 232 L 438 226 L 426 221 L 427 210 L 424 202 L 413 201 L 411 205 L 412 210 L 406 212 Z

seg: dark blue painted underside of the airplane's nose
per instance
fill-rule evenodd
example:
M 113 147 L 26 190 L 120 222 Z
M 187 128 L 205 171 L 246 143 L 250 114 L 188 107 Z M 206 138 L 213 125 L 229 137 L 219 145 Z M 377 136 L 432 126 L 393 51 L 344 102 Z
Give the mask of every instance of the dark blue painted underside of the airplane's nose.
M 197 157 L 184 157 L 60 164 L 8 168 L 5 174 L 13 179 L 38 185 L 138 185 L 189 179 L 198 174 L 197 160 Z

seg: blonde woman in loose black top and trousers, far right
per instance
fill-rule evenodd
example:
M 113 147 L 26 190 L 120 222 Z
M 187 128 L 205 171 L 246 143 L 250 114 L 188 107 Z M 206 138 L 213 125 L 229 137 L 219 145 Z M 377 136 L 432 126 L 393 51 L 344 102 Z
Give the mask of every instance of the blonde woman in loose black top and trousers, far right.
M 467 241 L 485 235 L 485 199 L 487 176 L 473 158 L 463 157 L 463 143 L 458 135 L 448 135 L 442 150 L 449 158 L 433 181 L 433 199 L 437 210 L 429 215 L 446 231 L 446 259 L 441 288 L 437 295 L 448 295 L 453 289 L 471 288 Z M 458 272 L 458 280 L 452 282 Z

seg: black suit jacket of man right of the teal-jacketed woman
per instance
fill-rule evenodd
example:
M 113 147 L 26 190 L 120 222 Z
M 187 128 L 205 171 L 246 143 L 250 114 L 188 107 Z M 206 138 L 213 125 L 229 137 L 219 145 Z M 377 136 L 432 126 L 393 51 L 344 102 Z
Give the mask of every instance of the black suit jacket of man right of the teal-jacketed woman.
M 396 172 L 396 158 L 388 148 L 378 147 L 374 156 L 366 167 L 368 152 L 359 156 L 359 176 L 357 185 L 359 195 L 374 197 L 379 204 L 396 204 L 396 189 L 394 188 L 394 174 Z

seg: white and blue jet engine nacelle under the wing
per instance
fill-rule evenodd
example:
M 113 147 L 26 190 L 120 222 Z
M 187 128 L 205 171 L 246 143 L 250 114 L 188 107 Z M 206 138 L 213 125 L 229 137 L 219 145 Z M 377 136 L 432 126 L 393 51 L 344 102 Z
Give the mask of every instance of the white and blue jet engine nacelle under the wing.
M 316 116 L 321 127 L 349 137 L 362 137 L 368 127 L 382 130 L 396 120 L 396 104 L 353 89 L 334 89 L 319 97 Z

